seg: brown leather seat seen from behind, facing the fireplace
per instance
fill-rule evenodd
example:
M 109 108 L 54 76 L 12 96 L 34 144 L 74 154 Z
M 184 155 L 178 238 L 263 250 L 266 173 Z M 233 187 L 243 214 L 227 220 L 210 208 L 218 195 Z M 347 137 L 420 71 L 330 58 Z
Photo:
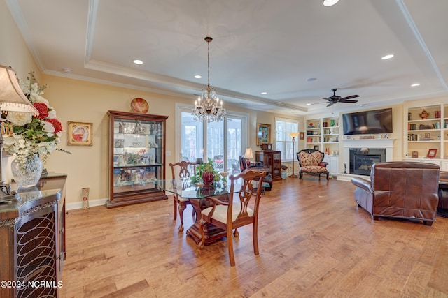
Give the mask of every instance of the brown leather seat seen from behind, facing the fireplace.
M 432 163 L 375 163 L 370 180 L 353 177 L 355 201 L 377 220 L 379 216 L 435 221 L 440 168 Z

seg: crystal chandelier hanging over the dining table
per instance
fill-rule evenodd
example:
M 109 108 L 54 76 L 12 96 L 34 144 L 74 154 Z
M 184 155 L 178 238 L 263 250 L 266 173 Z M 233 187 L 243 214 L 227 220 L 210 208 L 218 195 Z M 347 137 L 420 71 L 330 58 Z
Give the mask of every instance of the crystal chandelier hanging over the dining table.
M 195 121 L 219 122 L 224 119 L 225 109 L 223 109 L 223 100 L 219 100 L 214 87 L 210 87 L 210 42 L 213 40 L 210 36 L 204 38 L 207 41 L 209 50 L 207 55 L 207 87 L 202 89 L 202 94 L 195 101 L 195 108 L 191 114 Z

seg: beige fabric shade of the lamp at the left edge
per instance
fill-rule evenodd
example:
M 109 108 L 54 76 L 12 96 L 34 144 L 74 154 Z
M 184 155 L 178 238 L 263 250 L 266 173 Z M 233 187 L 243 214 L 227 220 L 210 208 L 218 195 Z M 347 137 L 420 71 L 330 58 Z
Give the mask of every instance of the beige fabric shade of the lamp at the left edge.
M 0 109 L 1 112 L 39 114 L 20 89 L 15 70 L 3 65 L 0 65 Z

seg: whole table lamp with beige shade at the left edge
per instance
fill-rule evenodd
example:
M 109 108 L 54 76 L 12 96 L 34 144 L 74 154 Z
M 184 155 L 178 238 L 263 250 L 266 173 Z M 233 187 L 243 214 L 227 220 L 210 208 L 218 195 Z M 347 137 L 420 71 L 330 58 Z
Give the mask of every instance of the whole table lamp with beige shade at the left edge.
M 31 113 L 38 116 L 39 112 L 31 105 L 22 89 L 20 89 L 15 70 L 8 66 L 0 65 L 0 122 L 2 128 L 5 126 L 6 119 L 1 118 L 1 114 L 8 112 L 16 113 Z M 6 133 L 12 133 L 10 130 Z M 3 181 L 3 136 L 0 133 L 0 202 L 2 200 L 10 200 L 15 196 L 15 191 L 11 191 L 9 184 L 4 184 Z

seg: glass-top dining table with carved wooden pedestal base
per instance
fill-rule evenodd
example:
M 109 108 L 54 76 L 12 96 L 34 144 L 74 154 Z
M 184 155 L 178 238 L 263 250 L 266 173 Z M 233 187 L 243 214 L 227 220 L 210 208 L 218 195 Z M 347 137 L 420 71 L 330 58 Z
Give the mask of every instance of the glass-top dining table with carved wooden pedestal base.
M 255 188 L 258 181 L 253 181 Z M 200 184 L 190 179 L 167 179 L 157 180 L 155 184 L 162 190 L 169 193 L 179 195 L 180 198 L 186 198 L 195 210 L 195 223 L 188 228 L 187 235 L 190 236 L 197 244 L 202 241 L 199 221 L 201 219 L 201 211 L 211 207 L 211 201 L 206 200 L 208 197 L 221 197 L 219 200 L 228 202 L 232 196 L 230 195 L 230 183 L 225 181 L 214 181 L 212 184 Z M 243 179 L 237 179 L 234 182 L 234 193 L 238 193 L 243 184 Z M 262 187 L 269 186 L 263 183 Z M 204 225 L 205 245 L 213 244 L 223 237 L 227 237 L 227 232 L 221 228 L 207 223 Z

